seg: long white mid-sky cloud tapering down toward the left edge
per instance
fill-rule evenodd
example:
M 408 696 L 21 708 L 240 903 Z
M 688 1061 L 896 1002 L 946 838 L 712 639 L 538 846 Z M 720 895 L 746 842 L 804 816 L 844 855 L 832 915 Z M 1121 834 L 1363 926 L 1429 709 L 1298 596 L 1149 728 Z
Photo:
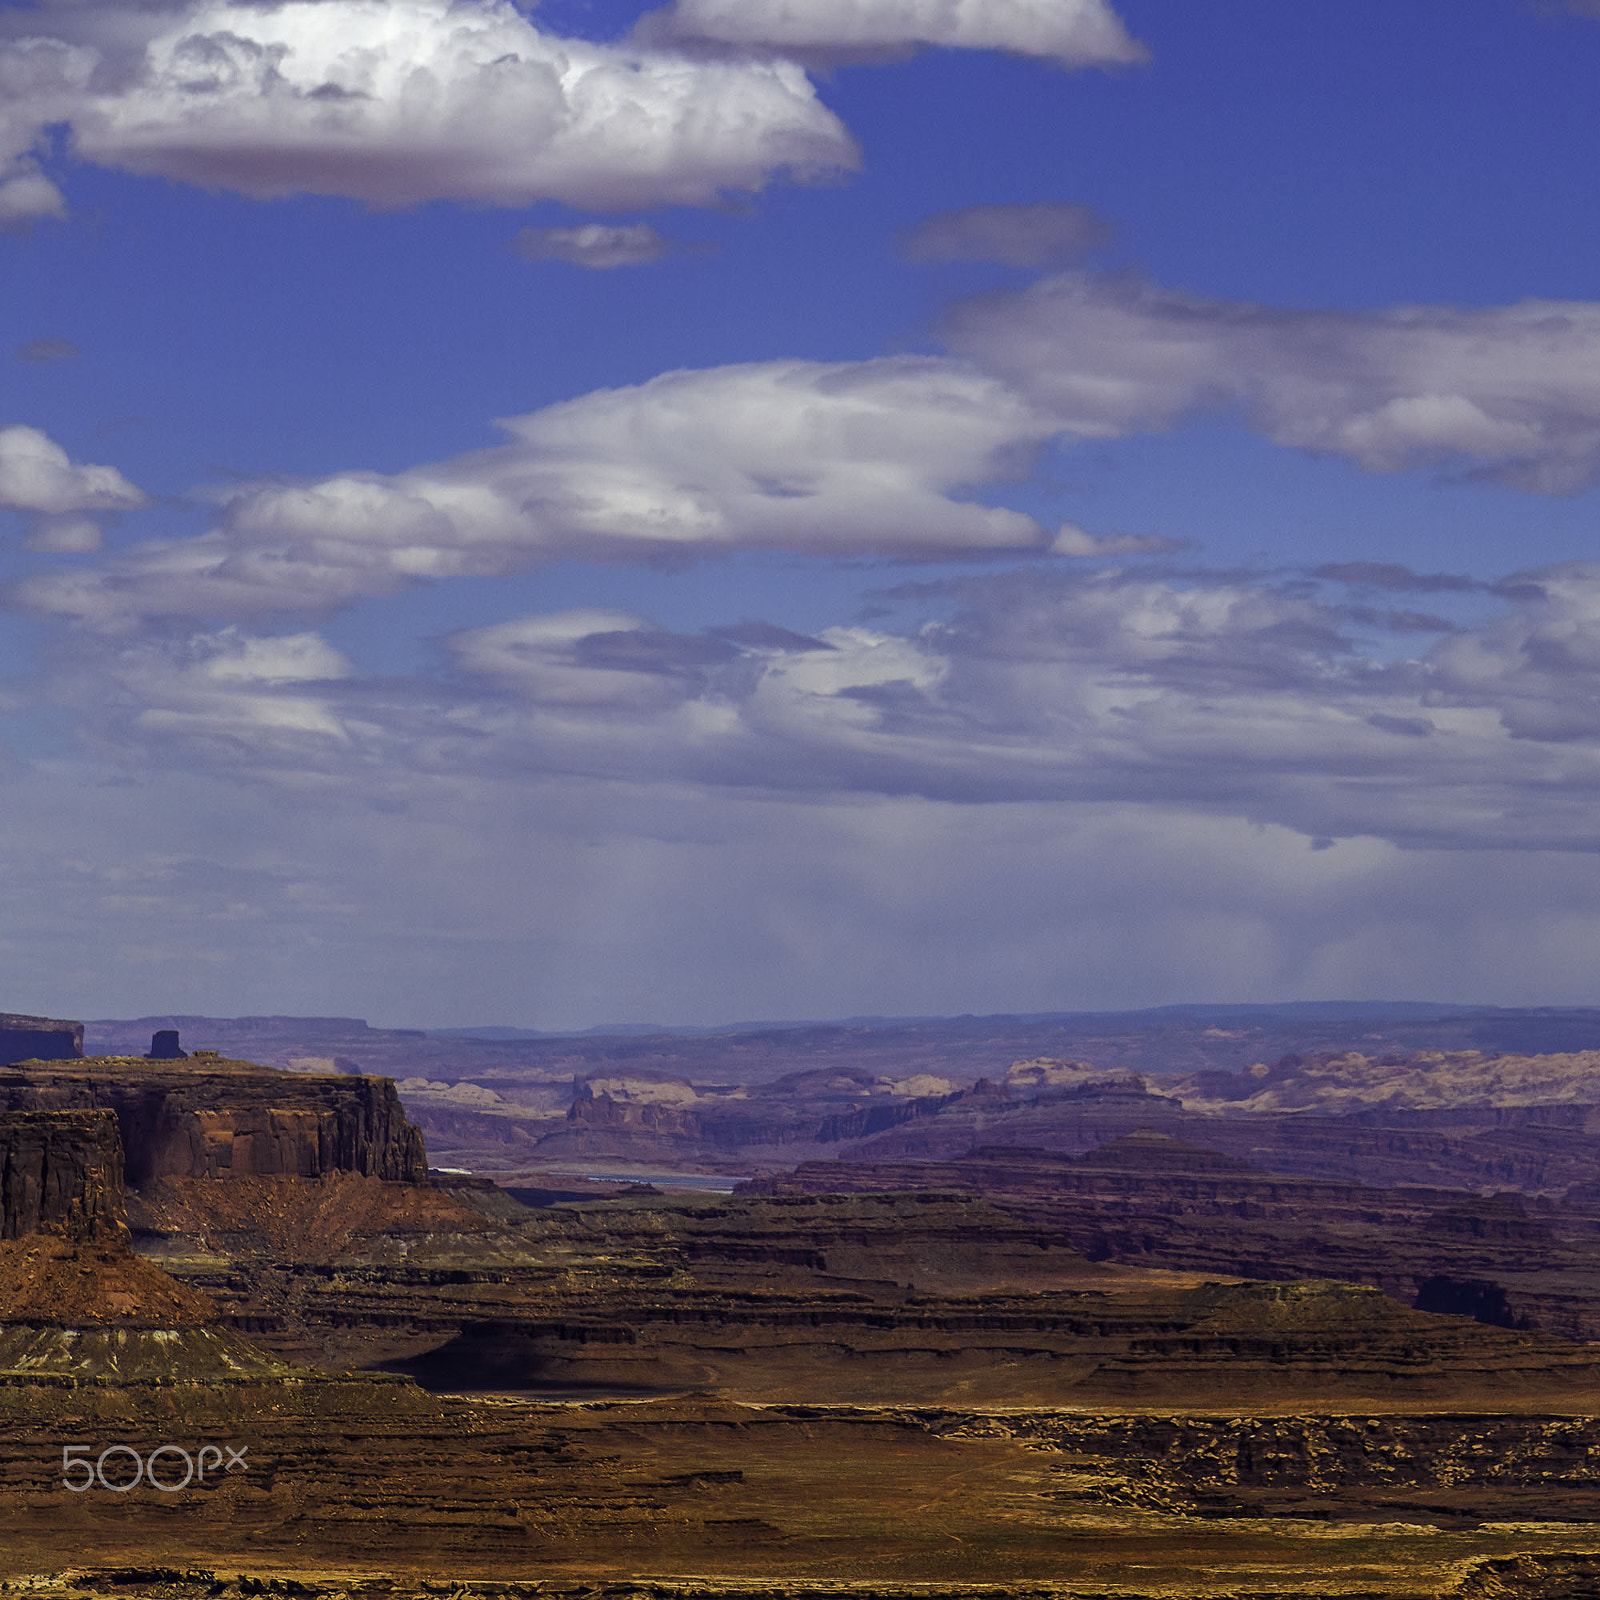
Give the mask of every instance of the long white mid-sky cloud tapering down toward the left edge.
M 245 488 L 208 534 L 27 579 L 13 600 L 117 627 L 328 610 L 562 557 L 936 558 L 1043 552 L 1053 539 L 1022 512 L 963 498 L 1026 472 L 1050 424 L 952 362 L 667 373 L 501 426 L 498 450 L 389 477 Z

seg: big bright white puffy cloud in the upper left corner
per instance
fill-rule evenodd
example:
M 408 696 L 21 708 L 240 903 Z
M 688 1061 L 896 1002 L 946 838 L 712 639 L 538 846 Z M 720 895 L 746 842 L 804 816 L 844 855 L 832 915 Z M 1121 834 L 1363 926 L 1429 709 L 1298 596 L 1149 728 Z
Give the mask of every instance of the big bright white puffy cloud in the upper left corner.
M 376 206 L 712 205 L 856 162 L 794 62 L 558 38 L 510 0 L 46 6 L 5 32 L 0 222 L 59 213 L 32 165 L 54 125 L 102 166 Z

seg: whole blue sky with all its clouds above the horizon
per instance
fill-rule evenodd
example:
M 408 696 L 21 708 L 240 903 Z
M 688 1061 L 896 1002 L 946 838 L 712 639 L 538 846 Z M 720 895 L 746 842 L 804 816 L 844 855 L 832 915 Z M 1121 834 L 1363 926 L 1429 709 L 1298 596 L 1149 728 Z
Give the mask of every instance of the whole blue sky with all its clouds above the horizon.
M 1597 72 L 1576 0 L 0 6 L 3 1003 L 1590 1002 Z

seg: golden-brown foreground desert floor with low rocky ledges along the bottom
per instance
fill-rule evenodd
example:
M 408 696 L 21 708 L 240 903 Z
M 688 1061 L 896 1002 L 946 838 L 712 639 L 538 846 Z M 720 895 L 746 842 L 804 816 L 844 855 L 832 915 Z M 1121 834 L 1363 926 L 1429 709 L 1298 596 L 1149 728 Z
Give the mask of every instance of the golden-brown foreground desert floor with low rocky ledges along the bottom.
M 74 1418 L 8 1402 L 0 1576 L 40 1600 L 1576 1600 L 1600 1574 L 1592 1418 L 485 1406 L 307 1384 L 186 1400 L 152 1434 L 93 1395 Z M 176 1494 L 59 1485 L 62 1446 L 179 1434 L 243 1446 L 248 1469 Z M 1416 1466 L 1430 1454 L 1448 1483 Z M 1563 1520 L 1528 1518 L 1539 1496 Z M 22 1578 L 62 1566 L 75 1582 Z

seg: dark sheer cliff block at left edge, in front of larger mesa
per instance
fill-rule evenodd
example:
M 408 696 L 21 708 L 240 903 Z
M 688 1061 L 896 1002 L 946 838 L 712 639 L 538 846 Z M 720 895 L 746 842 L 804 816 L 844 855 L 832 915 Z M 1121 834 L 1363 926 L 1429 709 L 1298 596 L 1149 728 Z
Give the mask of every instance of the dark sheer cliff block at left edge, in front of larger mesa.
M 107 1110 L 0 1114 L 0 1238 L 122 1242 L 122 1139 Z

